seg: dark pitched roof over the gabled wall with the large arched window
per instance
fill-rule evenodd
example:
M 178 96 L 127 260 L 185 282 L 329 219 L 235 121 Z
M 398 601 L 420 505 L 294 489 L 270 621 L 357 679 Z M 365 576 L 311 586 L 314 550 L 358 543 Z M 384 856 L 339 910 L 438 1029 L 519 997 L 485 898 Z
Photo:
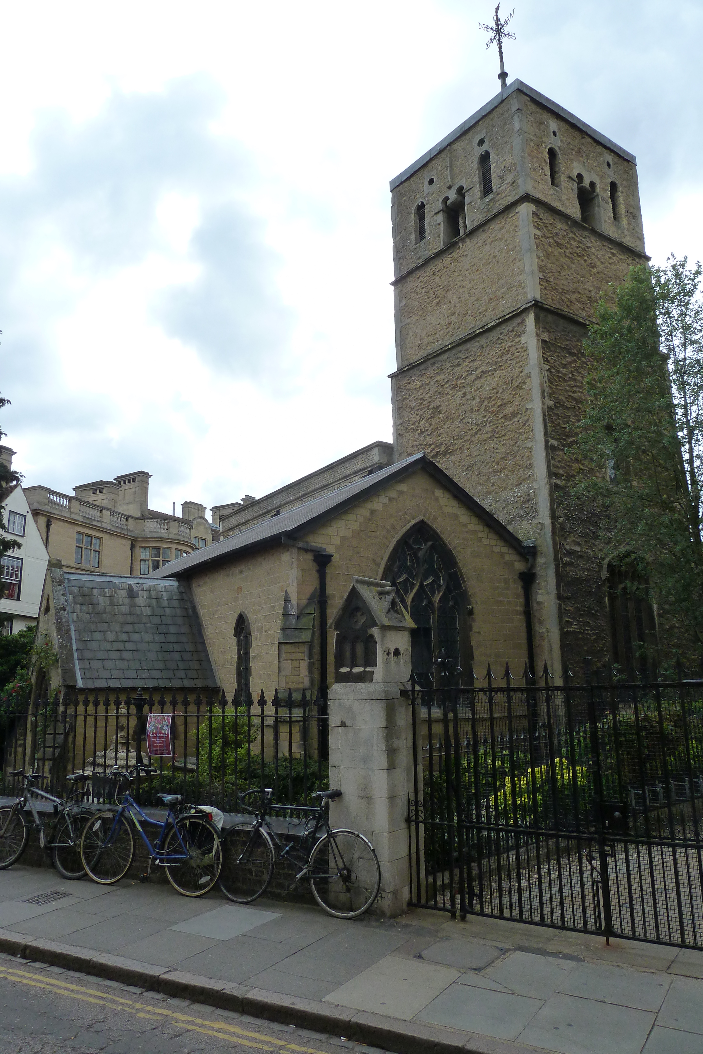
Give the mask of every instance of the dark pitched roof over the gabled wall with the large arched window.
M 412 457 L 406 457 L 405 461 L 397 462 L 395 465 L 389 465 L 388 468 L 380 469 L 355 483 L 347 484 L 346 487 L 339 487 L 321 497 L 306 502 L 305 505 L 298 505 L 294 509 L 270 516 L 269 520 L 239 531 L 231 538 L 226 538 L 221 542 L 215 542 L 206 549 L 196 549 L 187 557 L 181 557 L 180 560 L 172 560 L 170 564 L 163 565 L 158 571 L 152 571 L 149 579 L 190 575 L 200 568 L 211 567 L 234 555 L 240 555 L 247 550 L 295 542 L 300 534 L 306 533 L 317 524 L 344 512 L 345 509 L 350 508 L 360 500 L 382 490 L 391 483 L 396 483 L 412 472 L 416 472 L 418 469 L 424 469 L 434 476 L 442 486 L 494 530 L 504 542 L 512 546 L 521 557 L 527 557 L 523 543 L 512 531 L 508 530 L 505 524 L 502 524 L 488 509 L 471 497 L 451 476 L 443 472 L 438 465 L 435 465 L 424 453 L 419 453 L 413 454 Z

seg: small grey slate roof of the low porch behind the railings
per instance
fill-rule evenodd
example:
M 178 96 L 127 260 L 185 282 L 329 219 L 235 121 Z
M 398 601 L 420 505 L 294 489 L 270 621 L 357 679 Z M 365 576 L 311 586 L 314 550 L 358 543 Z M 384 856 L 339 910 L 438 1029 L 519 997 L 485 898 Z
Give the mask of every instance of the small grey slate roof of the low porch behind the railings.
M 71 572 L 63 584 L 76 687 L 217 686 L 187 584 Z

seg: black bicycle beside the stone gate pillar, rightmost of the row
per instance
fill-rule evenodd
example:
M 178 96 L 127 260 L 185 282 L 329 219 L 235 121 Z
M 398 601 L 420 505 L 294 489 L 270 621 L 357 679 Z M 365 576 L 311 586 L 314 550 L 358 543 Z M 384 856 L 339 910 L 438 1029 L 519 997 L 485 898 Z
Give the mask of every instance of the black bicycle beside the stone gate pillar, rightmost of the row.
M 249 803 L 258 795 L 258 808 Z M 222 841 L 222 870 L 219 886 L 222 893 L 238 904 L 248 904 L 266 893 L 278 860 L 291 860 L 300 870 L 295 875 L 298 882 L 309 882 L 313 897 L 329 915 L 339 919 L 353 919 L 368 912 L 378 896 L 380 865 L 373 845 L 356 831 L 332 829 L 325 813 L 329 801 L 341 797 L 341 790 L 318 790 L 313 798 L 320 804 L 274 805 L 273 790 L 258 788 L 238 796 L 242 809 L 254 812 L 253 820 L 241 820 L 229 827 Z M 300 815 L 298 820 L 288 820 L 297 837 L 287 845 L 271 826 L 269 816 L 276 812 Z

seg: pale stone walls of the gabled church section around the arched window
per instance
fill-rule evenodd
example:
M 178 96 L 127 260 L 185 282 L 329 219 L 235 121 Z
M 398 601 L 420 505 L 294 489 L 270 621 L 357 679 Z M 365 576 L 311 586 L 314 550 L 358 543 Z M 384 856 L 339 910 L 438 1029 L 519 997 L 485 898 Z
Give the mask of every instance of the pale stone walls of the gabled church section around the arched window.
M 344 600 L 353 575 L 378 578 L 405 531 L 425 520 L 443 538 L 465 578 L 473 606 L 471 644 L 476 671 L 490 661 L 503 669 L 506 660 L 522 671 L 526 661 L 523 592 L 518 574 L 526 561 L 435 480 L 417 471 L 404 481 L 358 502 L 351 509 L 311 529 L 306 543 L 325 546 L 334 559 L 327 569 L 328 617 Z M 222 688 L 236 684 L 234 624 L 240 611 L 252 631 L 252 692 L 271 698 L 275 688 L 302 687 L 304 657 L 298 656 L 299 683 L 293 669 L 278 664 L 278 632 L 284 596 L 306 603 L 318 579 L 312 553 L 293 546 L 270 548 L 194 574 L 196 599 L 210 653 Z M 319 629 L 314 632 L 314 684 L 319 683 Z M 334 639 L 328 633 L 329 678 L 333 679 Z M 288 661 L 288 657 L 286 662 Z

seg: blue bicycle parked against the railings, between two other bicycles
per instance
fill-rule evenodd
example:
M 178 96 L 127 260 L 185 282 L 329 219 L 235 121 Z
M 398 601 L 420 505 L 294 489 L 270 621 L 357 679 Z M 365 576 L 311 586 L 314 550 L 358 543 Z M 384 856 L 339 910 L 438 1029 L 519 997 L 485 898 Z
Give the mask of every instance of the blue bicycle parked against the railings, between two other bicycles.
M 149 852 L 150 872 L 152 863 L 162 866 L 174 890 L 185 897 L 201 897 L 212 890 L 222 866 L 219 832 L 215 824 L 192 806 L 185 806 L 185 812 L 180 795 L 157 795 L 168 809 L 165 820 L 161 821 L 147 816 L 129 789 L 121 793 L 124 783 L 129 787 L 137 776 L 158 775 L 155 768 L 137 765 L 129 772 L 115 769 L 113 775 L 117 780 L 115 797 L 119 807 L 117 812 L 96 813 L 86 823 L 80 842 L 81 860 L 93 881 L 111 885 L 126 875 L 134 859 L 136 829 Z M 159 828 L 153 843 L 142 823 Z

